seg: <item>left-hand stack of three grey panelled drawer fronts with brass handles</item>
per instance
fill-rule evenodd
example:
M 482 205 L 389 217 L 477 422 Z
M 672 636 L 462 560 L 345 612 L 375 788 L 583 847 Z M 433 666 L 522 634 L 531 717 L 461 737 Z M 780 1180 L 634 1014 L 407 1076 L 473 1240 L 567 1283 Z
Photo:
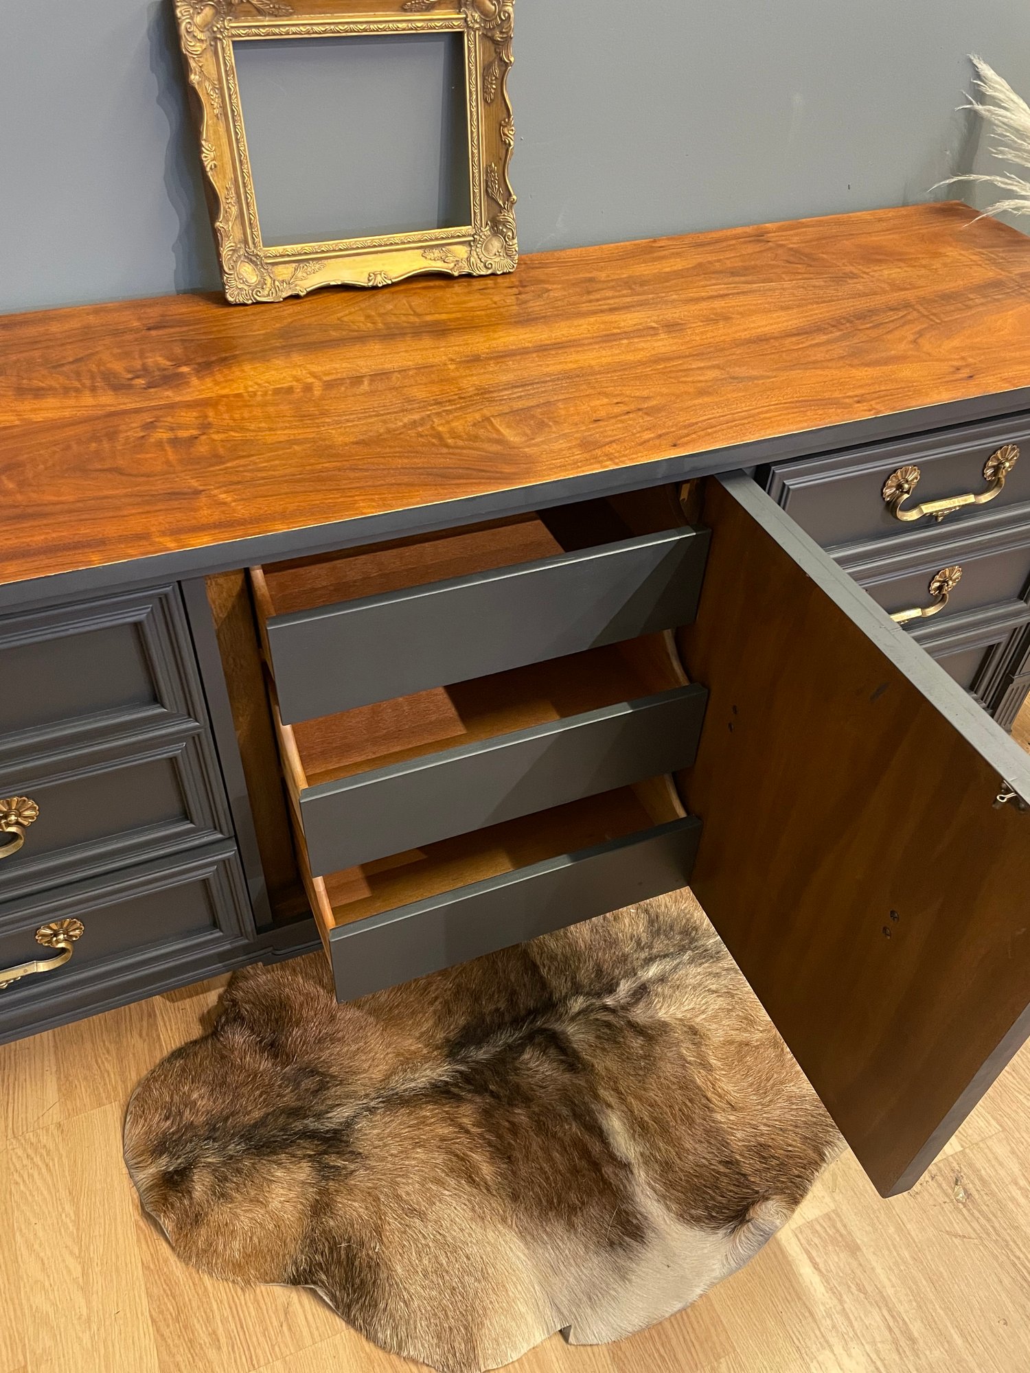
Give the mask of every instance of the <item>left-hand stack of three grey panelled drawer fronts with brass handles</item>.
M 0 1038 L 239 961 L 254 923 L 179 588 L 3 616 L 0 669 Z

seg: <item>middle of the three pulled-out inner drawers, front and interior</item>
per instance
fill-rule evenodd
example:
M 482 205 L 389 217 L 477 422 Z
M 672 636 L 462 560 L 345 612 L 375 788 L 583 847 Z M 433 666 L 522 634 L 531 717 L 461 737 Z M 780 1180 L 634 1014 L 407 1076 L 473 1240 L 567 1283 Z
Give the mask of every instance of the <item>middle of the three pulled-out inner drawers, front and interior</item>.
M 279 722 L 314 876 L 688 768 L 707 692 L 672 636 Z

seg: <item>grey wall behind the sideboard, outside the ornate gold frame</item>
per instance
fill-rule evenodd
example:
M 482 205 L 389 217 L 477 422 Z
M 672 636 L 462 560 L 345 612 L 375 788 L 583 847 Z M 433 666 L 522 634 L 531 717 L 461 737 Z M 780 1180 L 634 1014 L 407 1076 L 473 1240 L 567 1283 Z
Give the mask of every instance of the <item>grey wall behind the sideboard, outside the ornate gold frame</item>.
M 217 287 L 170 0 L 0 34 L 0 310 Z M 927 199 L 972 51 L 1030 93 L 1027 0 L 518 0 L 522 247 Z

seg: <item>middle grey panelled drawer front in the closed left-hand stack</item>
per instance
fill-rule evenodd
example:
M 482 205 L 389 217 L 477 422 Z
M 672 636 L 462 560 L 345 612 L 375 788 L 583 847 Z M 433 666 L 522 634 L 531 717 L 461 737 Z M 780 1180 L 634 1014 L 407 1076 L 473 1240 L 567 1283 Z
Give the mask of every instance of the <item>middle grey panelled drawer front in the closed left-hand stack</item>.
M 232 833 L 199 729 L 21 765 L 0 772 L 0 795 L 26 795 L 40 807 L 25 846 L 0 864 L 0 920 L 14 897 Z

